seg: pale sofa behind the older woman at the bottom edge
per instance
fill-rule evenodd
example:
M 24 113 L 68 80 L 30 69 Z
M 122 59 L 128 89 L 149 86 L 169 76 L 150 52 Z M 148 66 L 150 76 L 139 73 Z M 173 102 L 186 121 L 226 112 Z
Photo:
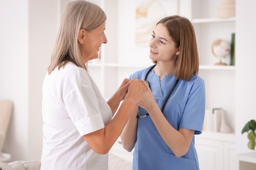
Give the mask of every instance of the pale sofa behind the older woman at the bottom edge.
M 0 170 L 40 170 L 41 161 L 12 161 L 5 163 L 0 161 Z M 109 153 L 108 158 L 108 170 L 131 170 L 132 163 L 127 160 L 123 160 L 119 156 Z

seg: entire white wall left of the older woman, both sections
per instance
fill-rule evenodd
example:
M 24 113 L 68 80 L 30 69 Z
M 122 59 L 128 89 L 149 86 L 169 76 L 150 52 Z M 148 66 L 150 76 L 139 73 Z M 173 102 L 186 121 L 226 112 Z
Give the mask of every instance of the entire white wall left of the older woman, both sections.
M 41 157 L 41 85 L 57 31 L 57 0 L 0 1 L 0 99 L 14 112 L 3 152 Z

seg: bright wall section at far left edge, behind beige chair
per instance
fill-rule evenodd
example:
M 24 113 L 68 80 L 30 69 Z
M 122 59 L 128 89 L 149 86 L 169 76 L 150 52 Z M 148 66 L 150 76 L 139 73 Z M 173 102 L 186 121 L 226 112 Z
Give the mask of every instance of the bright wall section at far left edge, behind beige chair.
M 0 98 L 14 102 L 4 150 L 21 158 L 28 147 L 28 0 L 0 1 Z

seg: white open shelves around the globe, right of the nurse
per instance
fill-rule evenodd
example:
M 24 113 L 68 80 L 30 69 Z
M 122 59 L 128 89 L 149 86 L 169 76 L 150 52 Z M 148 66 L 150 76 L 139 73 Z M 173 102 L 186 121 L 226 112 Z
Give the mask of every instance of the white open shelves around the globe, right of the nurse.
M 230 56 L 223 61 L 228 65 L 214 65 L 219 59 L 211 52 L 216 39 L 231 42 L 235 33 L 236 18 L 218 18 L 217 9 L 221 1 L 193 0 L 188 16 L 196 32 L 200 56 L 199 75 L 205 80 L 206 108 L 222 108 L 226 111 L 228 124 L 235 130 L 235 73 L 236 67 L 229 65 Z

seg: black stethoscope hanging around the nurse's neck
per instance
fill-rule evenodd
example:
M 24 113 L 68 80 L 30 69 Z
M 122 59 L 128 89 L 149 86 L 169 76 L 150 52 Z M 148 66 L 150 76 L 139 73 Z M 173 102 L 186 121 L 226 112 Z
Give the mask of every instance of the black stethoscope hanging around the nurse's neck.
M 145 75 L 144 81 L 148 84 L 149 88 L 150 88 L 150 83 L 148 82 L 148 80 L 146 80 L 146 78 L 148 78 L 148 74 L 150 73 L 150 71 L 152 71 L 152 69 L 154 69 L 154 67 L 156 67 L 156 64 L 153 65 L 152 67 L 150 67 L 150 69 L 148 70 L 148 72 Z M 175 89 L 175 87 L 177 86 L 179 82 L 179 79 L 176 80 L 175 84 L 173 85 L 173 87 L 171 88 L 171 90 L 169 91 L 168 95 L 165 97 L 165 101 L 163 102 L 163 106 L 161 107 L 161 112 L 163 113 L 163 110 L 165 109 L 165 105 L 167 103 L 167 101 L 169 100 L 169 98 L 171 97 L 171 93 L 173 93 L 173 90 Z M 150 88 L 151 89 L 151 88 Z M 144 118 L 146 116 L 149 116 L 148 112 L 143 115 L 140 116 L 140 111 L 138 110 L 138 116 L 137 118 Z

